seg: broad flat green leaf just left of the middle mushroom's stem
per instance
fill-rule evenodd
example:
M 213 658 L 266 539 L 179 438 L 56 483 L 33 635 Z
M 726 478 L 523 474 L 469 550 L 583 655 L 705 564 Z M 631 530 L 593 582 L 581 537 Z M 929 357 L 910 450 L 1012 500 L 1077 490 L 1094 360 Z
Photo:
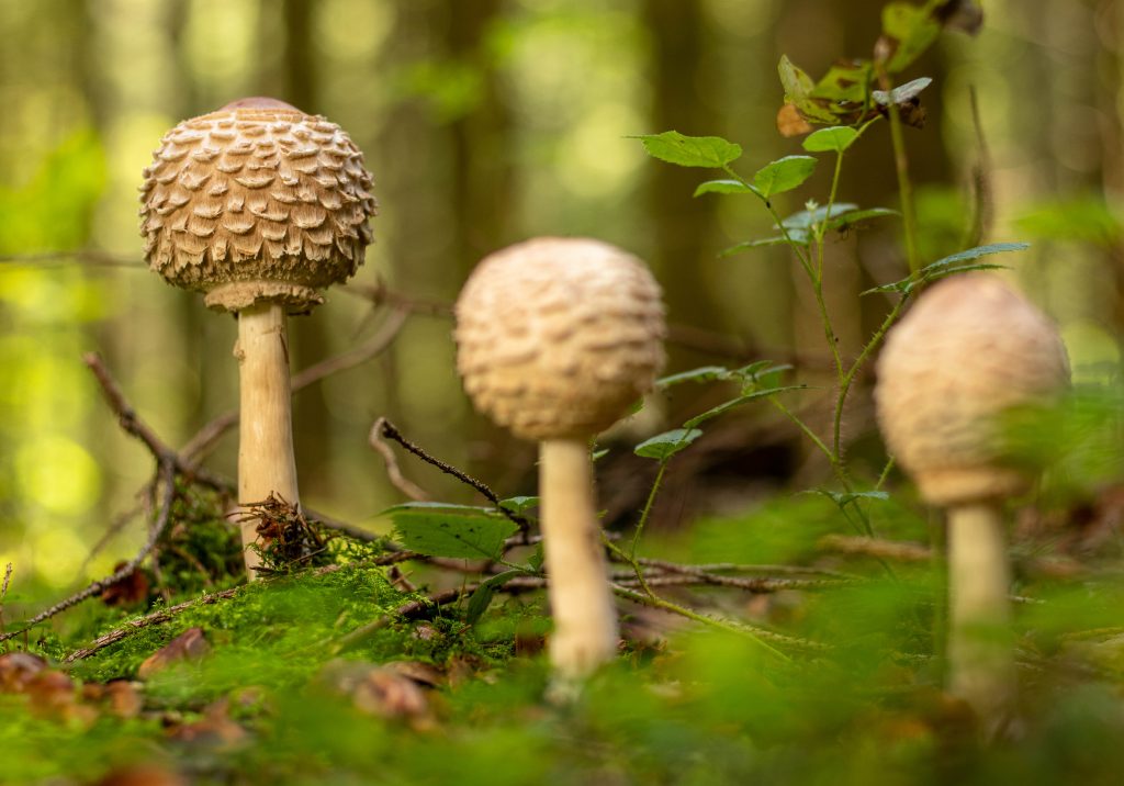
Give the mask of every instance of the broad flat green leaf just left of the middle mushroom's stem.
M 444 503 L 406 503 L 384 512 L 395 540 L 428 557 L 497 560 L 518 527 L 496 508 Z

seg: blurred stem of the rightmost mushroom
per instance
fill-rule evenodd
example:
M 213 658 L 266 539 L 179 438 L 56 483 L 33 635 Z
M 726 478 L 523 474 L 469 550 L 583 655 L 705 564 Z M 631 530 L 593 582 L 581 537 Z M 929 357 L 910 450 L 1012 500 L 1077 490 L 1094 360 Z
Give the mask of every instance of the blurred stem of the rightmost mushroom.
M 949 686 L 980 717 L 1001 721 L 1014 697 L 1003 516 L 996 503 L 949 509 Z

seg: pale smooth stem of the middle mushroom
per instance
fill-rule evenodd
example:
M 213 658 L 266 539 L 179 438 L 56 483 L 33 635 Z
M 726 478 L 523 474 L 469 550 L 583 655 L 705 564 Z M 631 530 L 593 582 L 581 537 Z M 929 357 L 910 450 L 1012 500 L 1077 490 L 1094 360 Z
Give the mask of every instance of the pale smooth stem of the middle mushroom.
M 538 458 L 543 551 L 554 616 L 551 661 L 563 677 L 580 678 L 613 658 L 618 639 L 593 508 L 589 445 L 582 440 L 545 440 Z

